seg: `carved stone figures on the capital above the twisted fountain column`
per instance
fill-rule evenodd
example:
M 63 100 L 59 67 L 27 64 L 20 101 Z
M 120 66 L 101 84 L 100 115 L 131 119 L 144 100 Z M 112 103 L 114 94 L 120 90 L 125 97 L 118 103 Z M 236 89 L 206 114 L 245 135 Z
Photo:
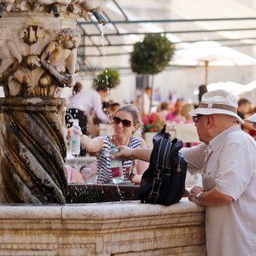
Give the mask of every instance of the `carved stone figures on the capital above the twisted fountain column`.
M 60 96 L 73 86 L 79 34 L 40 26 L 0 32 L 0 83 L 5 96 Z M 4 39 L 3 39 L 4 38 Z

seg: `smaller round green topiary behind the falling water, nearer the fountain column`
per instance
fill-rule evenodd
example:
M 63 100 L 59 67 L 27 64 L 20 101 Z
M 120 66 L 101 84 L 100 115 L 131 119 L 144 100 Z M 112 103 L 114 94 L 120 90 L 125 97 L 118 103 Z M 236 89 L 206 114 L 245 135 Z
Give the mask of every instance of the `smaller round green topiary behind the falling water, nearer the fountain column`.
M 108 87 L 109 90 L 115 88 L 120 84 L 119 71 L 115 69 L 104 69 L 102 73 L 99 73 L 95 79 L 93 79 L 92 87 L 97 89 L 98 87 Z

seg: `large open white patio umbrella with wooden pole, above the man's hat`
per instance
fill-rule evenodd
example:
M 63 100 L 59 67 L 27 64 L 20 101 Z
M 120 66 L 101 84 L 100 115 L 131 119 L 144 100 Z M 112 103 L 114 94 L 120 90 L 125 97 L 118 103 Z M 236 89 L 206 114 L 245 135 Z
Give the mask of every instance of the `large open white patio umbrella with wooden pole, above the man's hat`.
M 184 49 L 177 49 L 171 64 L 185 66 L 204 66 L 205 84 L 208 84 L 209 66 L 249 66 L 256 65 L 256 59 L 236 49 L 222 46 L 214 41 L 201 41 L 185 44 Z

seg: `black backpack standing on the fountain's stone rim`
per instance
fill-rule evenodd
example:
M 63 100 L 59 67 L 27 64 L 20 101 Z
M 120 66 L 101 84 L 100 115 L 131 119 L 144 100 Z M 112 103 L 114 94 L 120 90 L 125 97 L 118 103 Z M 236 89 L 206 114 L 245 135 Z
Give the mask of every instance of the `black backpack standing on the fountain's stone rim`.
M 183 197 L 188 163 L 179 152 L 183 142 L 177 138 L 171 141 L 170 129 L 165 125 L 153 138 L 150 163 L 138 192 L 142 203 L 170 206 Z

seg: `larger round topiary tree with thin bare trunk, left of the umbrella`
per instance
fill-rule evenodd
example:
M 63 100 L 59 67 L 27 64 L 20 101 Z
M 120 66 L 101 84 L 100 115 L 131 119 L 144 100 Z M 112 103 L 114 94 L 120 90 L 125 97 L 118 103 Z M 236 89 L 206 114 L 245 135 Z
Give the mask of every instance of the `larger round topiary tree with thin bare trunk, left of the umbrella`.
M 151 102 L 154 86 L 154 74 L 160 73 L 168 66 L 174 54 L 175 46 L 160 34 L 148 34 L 143 42 L 134 44 L 131 52 L 131 70 L 138 74 L 151 74 Z

